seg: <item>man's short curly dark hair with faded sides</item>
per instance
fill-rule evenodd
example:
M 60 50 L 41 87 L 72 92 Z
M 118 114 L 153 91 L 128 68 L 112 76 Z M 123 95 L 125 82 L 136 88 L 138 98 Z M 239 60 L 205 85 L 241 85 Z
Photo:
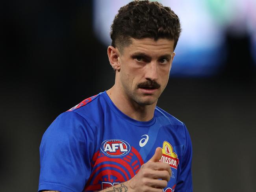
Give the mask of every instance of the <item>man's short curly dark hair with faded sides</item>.
M 180 33 L 180 20 L 170 7 L 158 2 L 135 0 L 119 9 L 111 25 L 110 37 L 111 45 L 120 50 L 132 43 L 131 37 L 174 40 L 174 50 Z

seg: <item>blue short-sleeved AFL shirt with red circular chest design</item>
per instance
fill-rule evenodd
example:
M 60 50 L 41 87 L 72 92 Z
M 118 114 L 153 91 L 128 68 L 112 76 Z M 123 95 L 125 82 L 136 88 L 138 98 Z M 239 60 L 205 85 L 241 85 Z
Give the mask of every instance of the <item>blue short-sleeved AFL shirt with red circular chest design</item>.
M 40 145 L 39 190 L 99 191 L 134 177 L 157 147 L 170 165 L 163 192 L 192 192 L 192 146 L 185 125 L 159 107 L 147 122 L 122 113 L 102 92 L 60 114 Z

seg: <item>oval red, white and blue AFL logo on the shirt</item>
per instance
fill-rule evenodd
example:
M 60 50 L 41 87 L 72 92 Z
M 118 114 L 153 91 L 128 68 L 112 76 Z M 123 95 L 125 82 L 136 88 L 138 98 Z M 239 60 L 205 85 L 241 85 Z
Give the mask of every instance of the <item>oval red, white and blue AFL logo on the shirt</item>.
M 130 151 L 128 142 L 120 139 L 109 139 L 102 142 L 100 150 L 110 157 L 120 157 Z

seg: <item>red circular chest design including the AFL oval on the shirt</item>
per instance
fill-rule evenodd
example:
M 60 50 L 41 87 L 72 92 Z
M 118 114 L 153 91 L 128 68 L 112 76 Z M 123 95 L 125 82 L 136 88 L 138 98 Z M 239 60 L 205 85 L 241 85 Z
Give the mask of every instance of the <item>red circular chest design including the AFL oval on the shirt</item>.
M 139 172 L 143 164 L 139 151 L 124 140 L 105 140 L 100 150 L 93 155 L 92 172 L 84 191 L 100 191 L 128 181 Z M 122 186 L 114 188 L 116 192 L 125 190 Z

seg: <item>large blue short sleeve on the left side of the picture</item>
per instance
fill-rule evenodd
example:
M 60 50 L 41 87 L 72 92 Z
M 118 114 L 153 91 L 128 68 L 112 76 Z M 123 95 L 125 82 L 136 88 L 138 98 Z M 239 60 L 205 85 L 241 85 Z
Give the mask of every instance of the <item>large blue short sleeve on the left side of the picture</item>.
M 93 130 L 74 111 L 60 114 L 40 145 L 40 190 L 82 192 L 91 174 Z

